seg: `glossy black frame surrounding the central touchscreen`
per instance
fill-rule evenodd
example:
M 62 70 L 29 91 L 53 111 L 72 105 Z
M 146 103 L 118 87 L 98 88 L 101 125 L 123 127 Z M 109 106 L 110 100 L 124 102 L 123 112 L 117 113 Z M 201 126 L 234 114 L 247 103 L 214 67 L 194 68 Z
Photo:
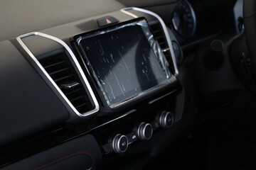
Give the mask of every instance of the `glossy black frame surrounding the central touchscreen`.
M 166 84 L 159 84 L 158 86 L 154 86 L 152 88 L 149 88 L 146 91 L 144 91 L 143 94 L 139 94 L 137 96 L 132 96 L 131 98 L 129 98 L 129 99 L 125 100 L 125 101 L 121 101 L 120 103 L 116 103 L 116 104 L 112 104 L 112 105 L 108 105 L 107 104 L 107 101 L 105 99 L 105 95 L 102 93 L 102 90 L 100 89 L 100 86 L 97 84 L 97 80 L 95 79 L 95 76 L 92 74 L 93 68 L 88 67 L 88 65 L 86 64 L 87 63 L 86 60 L 88 60 L 88 59 L 87 59 L 87 57 L 85 55 L 84 50 L 82 49 L 82 47 L 80 45 L 80 40 L 81 40 L 81 38 L 93 37 L 93 36 L 99 35 L 100 32 L 103 33 L 106 30 L 111 30 L 113 28 L 118 28 L 120 26 L 124 26 L 124 25 L 127 25 L 129 23 L 139 23 L 139 21 L 146 21 L 146 18 L 144 18 L 144 17 L 135 18 L 135 19 L 132 19 L 132 20 L 129 20 L 129 21 L 125 21 L 125 22 L 122 22 L 122 23 L 116 23 L 116 24 L 112 24 L 110 26 L 105 26 L 103 28 L 99 28 L 99 29 L 96 29 L 96 30 L 90 30 L 90 31 L 88 31 L 86 33 L 82 33 L 80 35 L 75 35 L 73 37 L 76 50 L 78 50 L 78 53 L 80 55 L 82 63 L 85 66 L 87 74 L 90 77 L 90 79 L 92 80 L 92 84 L 95 86 L 95 88 L 97 90 L 97 94 L 100 96 L 100 99 L 101 99 L 103 105 L 106 108 L 118 109 L 118 108 L 123 108 L 125 106 L 129 106 L 130 104 L 133 104 L 133 103 L 137 103 L 139 101 L 144 100 L 146 97 L 150 97 L 152 94 L 156 94 L 157 92 L 163 91 L 164 89 L 168 89 L 170 86 L 173 86 L 176 83 L 176 81 L 177 81 L 177 79 L 174 76 L 174 74 L 171 73 L 171 77 L 169 79 L 167 79 L 169 82 L 166 83 Z M 149 28 L 150 33 L 152 34 L 150 25 L 149 25 L 149 23 L 147 21 L 146 21 L 146 24 L 147 24 L 147 26 Z M 157 42 L 157 44 L 158 44 L 158 42 Z M 169 68 L 169 70 L 171 70 L 170 65 L 169 65 L 168 68 Z

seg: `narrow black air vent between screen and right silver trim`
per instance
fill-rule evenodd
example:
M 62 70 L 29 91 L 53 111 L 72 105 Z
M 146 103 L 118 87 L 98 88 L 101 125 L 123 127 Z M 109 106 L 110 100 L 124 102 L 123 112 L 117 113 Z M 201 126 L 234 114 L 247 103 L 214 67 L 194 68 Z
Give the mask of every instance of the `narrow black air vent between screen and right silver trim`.
M 164 55 L 165 55 L 166 59 L 170 63 L 171 70 L 173 72 L 175 72 L 173 60 L 171 59 L 171 52 L 170 52 L 170 49 L 169 49 L 169 45 L 166 41 L 166 37 L 164 35 L 164 31 L 161 27 L 161 23 L 154 23 L 154 24 L 150 25 L 150 28 L 151 28 L 151 31 L 154 35 L 154 38 L 157 40 L 157 42 L 159 42 L 161 50 L 164 52 Z

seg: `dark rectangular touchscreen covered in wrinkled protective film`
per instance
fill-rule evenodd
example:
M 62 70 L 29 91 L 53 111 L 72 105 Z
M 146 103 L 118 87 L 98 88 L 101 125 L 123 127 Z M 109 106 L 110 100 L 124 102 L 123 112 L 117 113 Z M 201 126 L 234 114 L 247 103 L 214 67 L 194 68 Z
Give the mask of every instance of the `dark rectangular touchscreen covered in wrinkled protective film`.
M 78 45 L 109 106 L 166 84 L 171 77 L 145 21 L 85 35 Z

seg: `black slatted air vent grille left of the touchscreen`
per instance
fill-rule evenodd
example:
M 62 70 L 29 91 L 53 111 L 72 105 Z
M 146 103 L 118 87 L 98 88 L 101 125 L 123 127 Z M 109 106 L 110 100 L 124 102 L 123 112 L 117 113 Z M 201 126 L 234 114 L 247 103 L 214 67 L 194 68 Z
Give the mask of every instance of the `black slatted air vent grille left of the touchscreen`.
M 65 52 L 43 58 L 39 62 L 79 113 L 92 110 L 92 103 Z

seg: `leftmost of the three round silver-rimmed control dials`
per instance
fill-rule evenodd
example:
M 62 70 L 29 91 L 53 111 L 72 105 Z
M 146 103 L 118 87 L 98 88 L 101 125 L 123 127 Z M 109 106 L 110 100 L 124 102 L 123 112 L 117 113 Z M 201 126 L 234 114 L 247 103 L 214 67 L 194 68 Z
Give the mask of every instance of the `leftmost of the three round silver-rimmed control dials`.
M 114 152 L 117 154 L 121 152 L 125 152 L 128 147 L 128 139 L 125 135 L 118 134 L 114 137 L 114 140 L 112 142 L 112 147 L 114 149 Z

